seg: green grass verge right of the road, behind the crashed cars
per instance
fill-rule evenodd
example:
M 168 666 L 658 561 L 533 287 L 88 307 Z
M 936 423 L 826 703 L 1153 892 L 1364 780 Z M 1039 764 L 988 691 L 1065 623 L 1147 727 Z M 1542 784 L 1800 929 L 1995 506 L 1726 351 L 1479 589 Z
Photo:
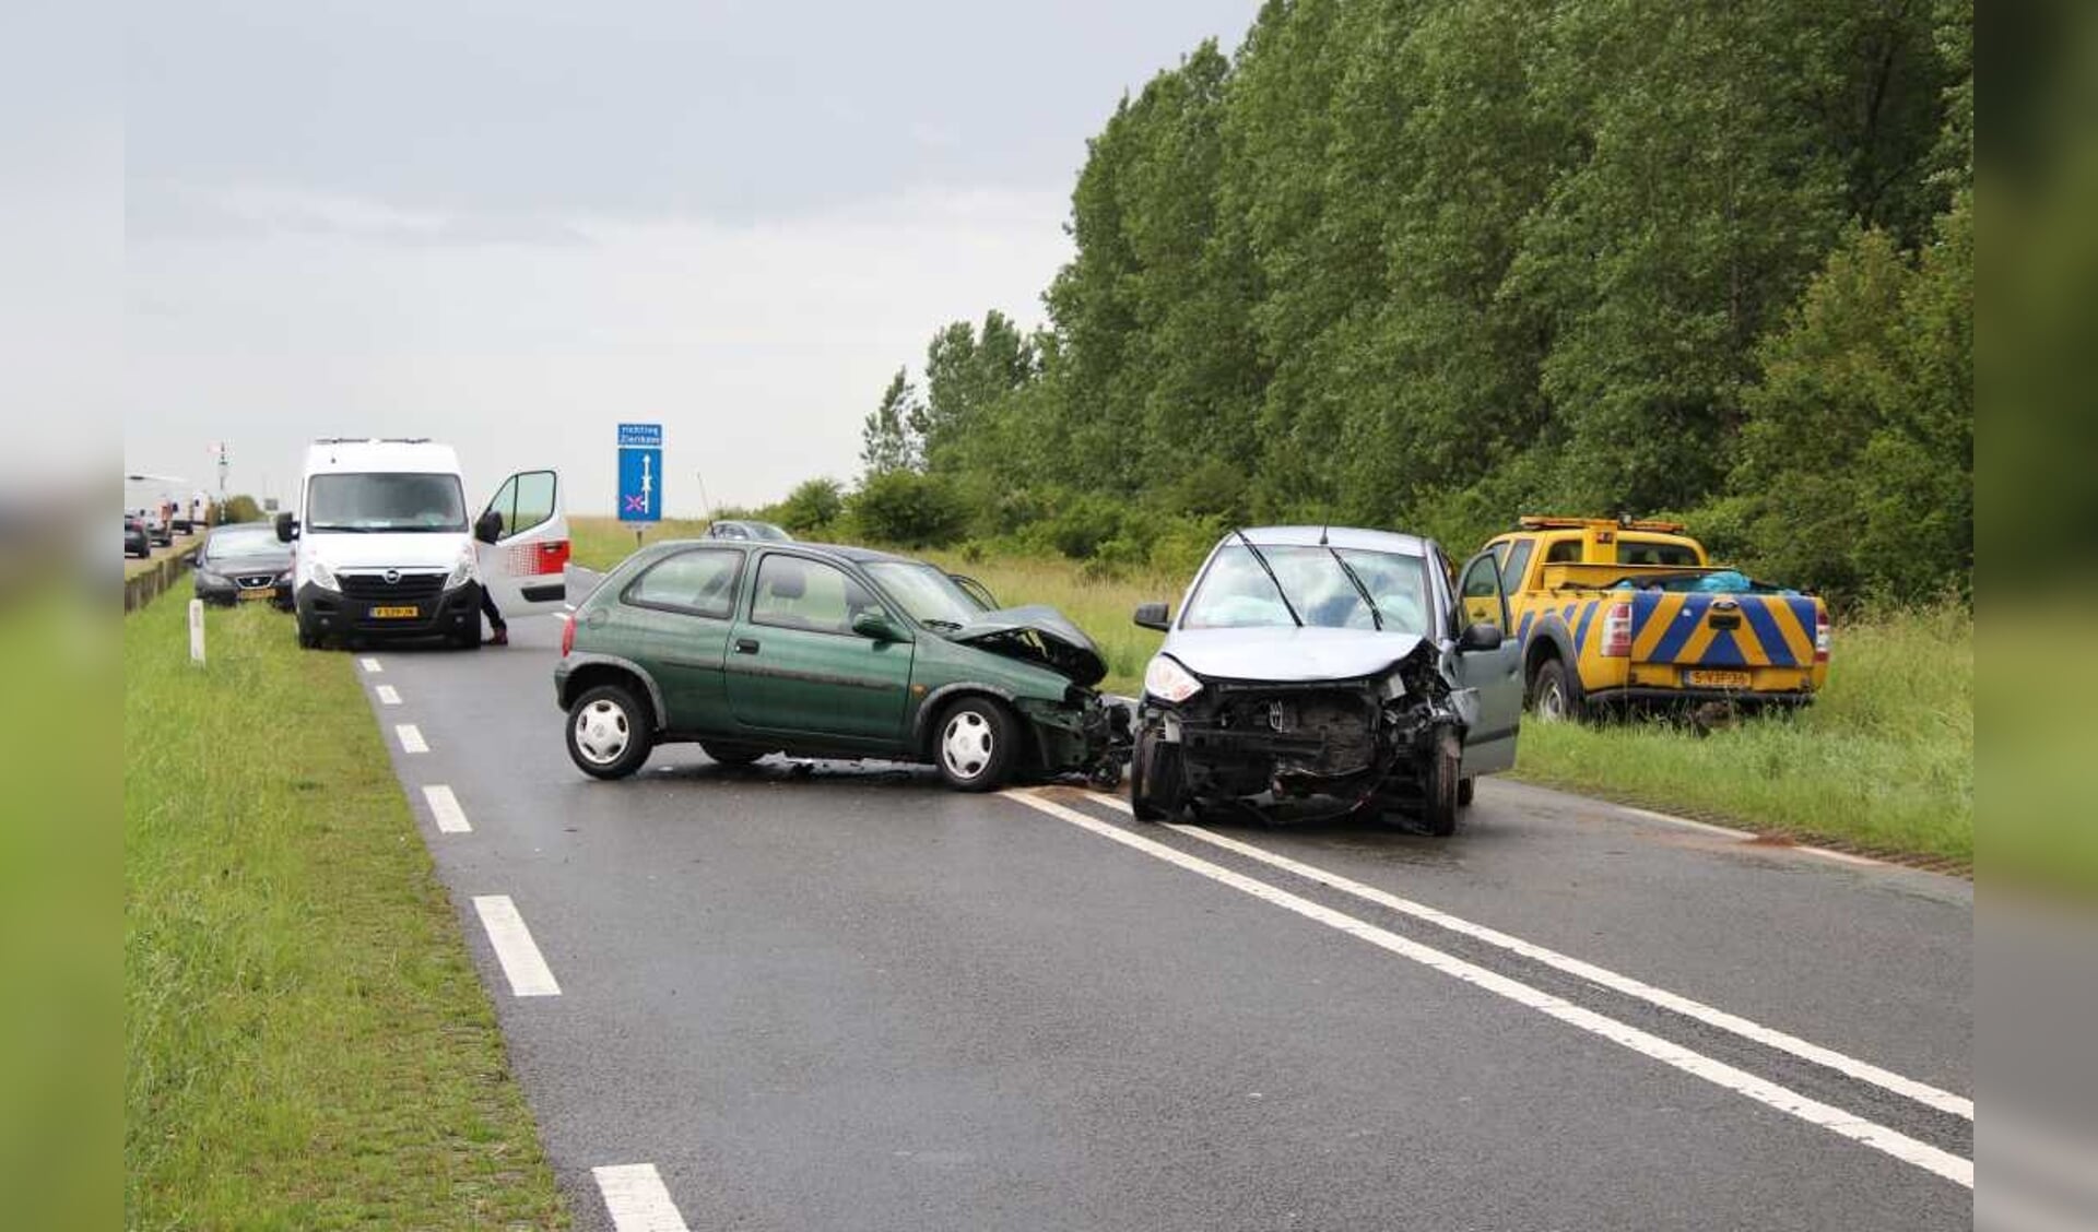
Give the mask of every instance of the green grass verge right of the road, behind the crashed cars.
M 699 534 L 663 524 L 655 538 Z M 631 532 L 577 520 L 577 557 L 604 566 Z M 1135 694 L 1160 635 L 1137 603 L 1179 603 L 1187 578 L 1089 578 L 1068 559 L 923 553 L 982 580 L 1001 603 L 1062 608 L 1108 656 L 1104 687 Z M 590 564 L 587 559 L 583 564 Z M 600 568 L 600 566 L 592 566 Z M 1960 606 L 1838 624 L 1829 687 L 1798 714 L 1746 719 L 1699 738 L 1670 723 L 1525 723 L 1517 777 L 1760 834 L 1974 867 L 1974 620 Z

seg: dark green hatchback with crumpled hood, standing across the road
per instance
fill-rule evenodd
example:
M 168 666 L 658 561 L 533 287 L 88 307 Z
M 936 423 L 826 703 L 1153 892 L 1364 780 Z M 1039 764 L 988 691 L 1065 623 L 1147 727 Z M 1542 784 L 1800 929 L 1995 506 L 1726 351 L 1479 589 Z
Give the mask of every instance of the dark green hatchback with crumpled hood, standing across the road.
M 965 792 L 1022 775 L 1120 779 L 1129 712 L 1099 647 L 1055 608 L 997 610 L 967 578 L 862 547 L 646 547 L 562 633 L 569 756 L 600 779 L 657 744 L 745 765 L 772 752 L 932 763 Z

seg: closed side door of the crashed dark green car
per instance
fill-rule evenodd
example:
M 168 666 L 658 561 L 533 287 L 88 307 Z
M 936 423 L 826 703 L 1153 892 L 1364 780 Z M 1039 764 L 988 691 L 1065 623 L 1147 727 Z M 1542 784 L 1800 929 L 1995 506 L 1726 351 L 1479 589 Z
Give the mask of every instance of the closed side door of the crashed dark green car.
M 766 551 L 728 650 L 736 723 L 841 748 L 900 748 L 913 643 L 860 637 L 860 612 L 885 614 L 843 568 Z

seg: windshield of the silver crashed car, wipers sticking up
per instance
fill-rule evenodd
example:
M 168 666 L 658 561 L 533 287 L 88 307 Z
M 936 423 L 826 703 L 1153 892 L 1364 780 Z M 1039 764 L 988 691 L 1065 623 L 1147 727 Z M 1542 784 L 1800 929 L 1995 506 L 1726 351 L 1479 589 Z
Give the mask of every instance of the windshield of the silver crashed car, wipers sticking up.
M 1351 547 L 1261 547 L 1276 578 L 1242 543 L 1217 553 L 1187 599 L 1181 629 L 1290 629 L 1290 608 L 1320 629 L 1429 631 L 1429 572 L 1418 555 Z M 1345 566 L 1345 568 L 1343 568 Z M 1349 578 L 1349 572 L 1355 576 Z M 1276 593 L 1288 593 L 1288 603 Z M 1357 587 L 1357 582 L 1362 582 Z M 1364 591 L 1376 612 L 1362 601 Z

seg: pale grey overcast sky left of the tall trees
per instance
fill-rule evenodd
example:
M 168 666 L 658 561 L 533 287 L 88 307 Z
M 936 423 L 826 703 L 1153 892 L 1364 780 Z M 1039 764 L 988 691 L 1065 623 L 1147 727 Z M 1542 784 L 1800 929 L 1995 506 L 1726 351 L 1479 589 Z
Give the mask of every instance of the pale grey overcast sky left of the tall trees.
M 858 469 L 946 321 L 1043 318 L 1125 90 L 1257 0 L 130 6 L 128 469 L 290 494 L 315 436 L 669 513 Z

